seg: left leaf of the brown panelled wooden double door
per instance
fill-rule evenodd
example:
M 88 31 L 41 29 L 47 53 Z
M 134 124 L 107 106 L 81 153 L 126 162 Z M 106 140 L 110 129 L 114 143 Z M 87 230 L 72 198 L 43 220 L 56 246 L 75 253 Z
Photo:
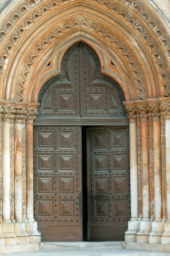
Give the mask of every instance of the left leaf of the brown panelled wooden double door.
M 37 127 L 35 219 L 42 241 L 82 241 L 81 126 Z

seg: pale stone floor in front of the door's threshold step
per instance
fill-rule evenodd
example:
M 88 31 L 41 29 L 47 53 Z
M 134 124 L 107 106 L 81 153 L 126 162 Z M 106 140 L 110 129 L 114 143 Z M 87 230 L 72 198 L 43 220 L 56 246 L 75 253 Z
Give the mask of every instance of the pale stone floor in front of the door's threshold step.
M 123 248 L 101 249 L 41 249 L 22 253 L 1 254 L 1 256 L 163 256 L 170 253 L 161 253 L 144 250 L 130 250 Z

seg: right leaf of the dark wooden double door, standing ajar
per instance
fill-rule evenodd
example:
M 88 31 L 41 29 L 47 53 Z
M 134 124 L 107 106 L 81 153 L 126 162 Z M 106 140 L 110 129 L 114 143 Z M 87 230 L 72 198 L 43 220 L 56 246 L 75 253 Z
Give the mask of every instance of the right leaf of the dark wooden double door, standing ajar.
M 127 127 L 88 129 L 88 239 L 122 241 L 130 218 Z

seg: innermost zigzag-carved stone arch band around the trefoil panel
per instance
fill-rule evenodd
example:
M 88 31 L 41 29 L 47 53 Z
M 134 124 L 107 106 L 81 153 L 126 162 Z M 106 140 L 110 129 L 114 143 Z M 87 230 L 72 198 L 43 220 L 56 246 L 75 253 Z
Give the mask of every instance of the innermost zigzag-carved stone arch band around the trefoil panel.
M 33 48 L 33 52 L 29 53 L 26 58 L 27 61 L 25 61 L 23 64 L 24 69 L 20 71 L 19 78 L 17 80 L 17 90 L 15 93 L 17 96 L 17 101 L 23 99 L 23 90 L 25 89 L 27 75 L 31 70 L 31 66 L 35 63 L 35 58 L 40 55 L 40 52 L 48 47 L 48 44 L 50 44 L 54 40 L 54 38 L 58 38 L 62 33 L 68 32 L 75 26 L 80 26 L 80 29 L 81 26 L 86 26 L 87 29 L 95 29 L 96 33 L 100 33 L 104 38 L 109 39 L 109 41 L 114 44 L 114 47 L 116 47 L 126 58 L 130 69 L 134 73 L 136 87 L 139 92 L 138 98 L 146 99 L 147 89 L 145 85 L 145 79 L 143 77 L 143 72 L 141 68 L 138 67 L 140 64 L 138 63 L 137 58 L 135 58 L 135 56 L 133 55 L 132 50 L 129 49 L 127 44 L 125 44 L 121 40 L 121 38 L 119 38 L 118 35 L 116 35 L 114 32 L 107 32 L 106 27 L 100 25 L 96 21 L 90 21 L 88 18 L 84 17 L 81 20 L 78 20 L 78 18 L 74 18 L 71 22 L 66 21 L 62 24 L 62 26 L 55 27 L 54 32 L 48 32 L 46 34 L 46 38 L 43 37 L 43 39 L 40 40 L 39 44 Z

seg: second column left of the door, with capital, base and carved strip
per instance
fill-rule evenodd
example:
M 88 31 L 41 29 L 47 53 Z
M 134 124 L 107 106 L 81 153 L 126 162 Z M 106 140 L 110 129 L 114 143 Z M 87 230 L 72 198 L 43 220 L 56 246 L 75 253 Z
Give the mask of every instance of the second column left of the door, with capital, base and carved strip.
M 15 112 L 14 123 L 14 232 L 20 236 L 26 233 L 26 145 L 25 145 L 25 119 L 26 108 L 22 107 Z

